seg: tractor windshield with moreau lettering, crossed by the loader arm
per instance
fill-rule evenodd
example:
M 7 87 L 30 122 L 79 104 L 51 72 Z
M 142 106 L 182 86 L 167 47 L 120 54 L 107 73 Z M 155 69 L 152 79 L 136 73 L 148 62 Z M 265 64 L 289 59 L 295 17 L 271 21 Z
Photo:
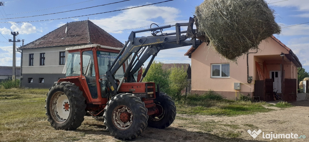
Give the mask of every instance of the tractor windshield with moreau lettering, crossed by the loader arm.
M 104 76 L 108 68 L 113 64 L 118 53 L 106 52 L 106 51 L 97 51 L 98 66 L 100 76 Z M 123 66 L 119 68 L 115 74 L 116 79 L 123 77 L 124 70 Z

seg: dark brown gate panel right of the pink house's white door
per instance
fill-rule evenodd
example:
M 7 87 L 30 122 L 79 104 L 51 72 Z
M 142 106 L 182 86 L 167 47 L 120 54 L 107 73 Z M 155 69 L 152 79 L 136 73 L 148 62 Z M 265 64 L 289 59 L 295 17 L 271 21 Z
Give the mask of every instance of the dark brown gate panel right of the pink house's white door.
M 292 102 L 296 101 L 297 93 L 297 80 L 296 79 L 284 79 L 284 94 L 283 101 Z

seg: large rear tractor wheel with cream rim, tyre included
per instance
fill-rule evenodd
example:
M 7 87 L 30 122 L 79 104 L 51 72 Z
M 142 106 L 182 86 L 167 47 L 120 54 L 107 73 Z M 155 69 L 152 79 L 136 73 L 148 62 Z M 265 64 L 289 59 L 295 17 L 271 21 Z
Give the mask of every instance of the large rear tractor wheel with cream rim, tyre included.
M 74 83 L 54 84 L 45 101 L 48 121 L 55 129 L 75 130 L 84 121 L 85 97 Z

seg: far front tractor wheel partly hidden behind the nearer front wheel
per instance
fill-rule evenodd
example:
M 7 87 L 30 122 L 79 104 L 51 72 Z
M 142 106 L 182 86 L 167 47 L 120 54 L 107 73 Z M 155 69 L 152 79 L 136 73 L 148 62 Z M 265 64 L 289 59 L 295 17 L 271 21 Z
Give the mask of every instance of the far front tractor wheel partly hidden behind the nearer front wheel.
M 155 98 L 156 113 L 149 115 L 148 126 L 164 129 L 172 124 L 176 116 L 176 106 L 171 97 L 161 92 Z

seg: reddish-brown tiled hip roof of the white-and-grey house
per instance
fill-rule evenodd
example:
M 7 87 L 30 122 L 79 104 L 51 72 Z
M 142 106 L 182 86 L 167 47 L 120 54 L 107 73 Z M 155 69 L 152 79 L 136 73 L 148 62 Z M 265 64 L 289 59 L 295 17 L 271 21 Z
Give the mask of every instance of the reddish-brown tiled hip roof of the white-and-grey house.
M 124 45 L 89 20 L 67 23 L 19 49 L 64 45 L 99 44 L 122 48 Z

